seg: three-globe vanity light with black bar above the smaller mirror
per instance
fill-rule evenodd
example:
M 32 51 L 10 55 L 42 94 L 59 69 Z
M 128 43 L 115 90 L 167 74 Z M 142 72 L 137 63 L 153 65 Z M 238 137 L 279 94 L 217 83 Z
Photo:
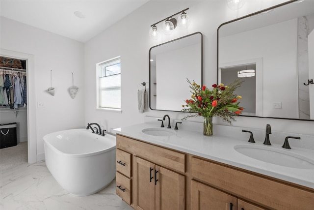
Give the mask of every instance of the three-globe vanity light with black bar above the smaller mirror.
M 160 30 L 157 28 L 157 24 L 162 23 L 162 32 L 165 35 L 170 35 L 173 30 L 179 26 L 180 29 L 187 29 L 188 26 L 190 25 L 190 17 L 185 13 L 186 10 L 188 10 L 189 8 L 183 9 L 180 12 L 177 12 L 176 14 L 173 14 L 153 25 L 151 25 L 151 29 L 149 31 L 149 35 L 152 39 L 158 39 L 159 35 L 160 35 Z M 178 20 L 176 18 L 174 18 L 174 16 L 180 14 L 181 15 L 178 17 Z

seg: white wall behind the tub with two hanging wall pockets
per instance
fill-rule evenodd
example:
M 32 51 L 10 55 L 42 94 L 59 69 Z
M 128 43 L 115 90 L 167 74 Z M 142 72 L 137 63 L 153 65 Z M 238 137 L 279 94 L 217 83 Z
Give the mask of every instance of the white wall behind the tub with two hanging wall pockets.
M 0 44 L 1 49 L 33 55 L 34 67 L 27 70 L 32 71 L 30 75 L 34 78 L 28 81 L 33 82 L 35 92 L 30 93 L 28 103 L 36 110 L 32 120 L 36 135 L 28 141 L 36 142 L 36 161 L 39 161 L 44 158 L 44 135 L 83 126 L 83 43 L 1 17 Z M 45 91 L 50 87 L 50 70 L 54 96 Z M 68 93 L 72 86 L 71 72 L 79 88 L 74 99 Z M 37 102 L 44 103 L 45 108 L 37 108 Z

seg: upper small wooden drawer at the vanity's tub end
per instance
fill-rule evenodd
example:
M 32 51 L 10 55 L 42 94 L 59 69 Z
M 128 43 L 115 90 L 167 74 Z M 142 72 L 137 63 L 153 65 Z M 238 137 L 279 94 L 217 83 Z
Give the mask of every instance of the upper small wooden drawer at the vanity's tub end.
M 116 170 L 131 178 L 131 154 L 122 150 L 116 150 Z

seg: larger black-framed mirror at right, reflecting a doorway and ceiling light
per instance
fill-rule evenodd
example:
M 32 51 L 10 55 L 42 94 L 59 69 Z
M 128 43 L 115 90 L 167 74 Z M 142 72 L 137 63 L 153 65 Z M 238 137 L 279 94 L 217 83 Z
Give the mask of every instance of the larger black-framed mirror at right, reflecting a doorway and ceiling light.
M 314 120 L 313 58 L 314 0 L 290 0 L 217 30 L 217 80 L 243 76 L 235 93 L 244 116 Z

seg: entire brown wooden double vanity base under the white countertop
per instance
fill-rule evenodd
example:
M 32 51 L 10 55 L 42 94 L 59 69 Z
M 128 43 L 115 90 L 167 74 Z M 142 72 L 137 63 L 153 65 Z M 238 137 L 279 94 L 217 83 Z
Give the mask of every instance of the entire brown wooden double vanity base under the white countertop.
M 117 135 L 117 195 L 135 210 L 313 210 L 314 189 Z

